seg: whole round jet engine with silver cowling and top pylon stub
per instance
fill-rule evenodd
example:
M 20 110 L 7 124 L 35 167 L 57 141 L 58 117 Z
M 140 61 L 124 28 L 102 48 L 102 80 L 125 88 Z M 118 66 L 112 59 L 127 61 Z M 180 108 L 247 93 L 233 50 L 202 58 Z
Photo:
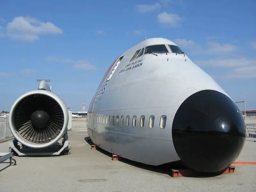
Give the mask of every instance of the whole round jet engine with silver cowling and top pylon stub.
M 9 125 L 16 140 L 30 148 L 46 148 L 63 137 L 68 128 L 68 108 L 45 81 L 21 95 L 12 105 Z

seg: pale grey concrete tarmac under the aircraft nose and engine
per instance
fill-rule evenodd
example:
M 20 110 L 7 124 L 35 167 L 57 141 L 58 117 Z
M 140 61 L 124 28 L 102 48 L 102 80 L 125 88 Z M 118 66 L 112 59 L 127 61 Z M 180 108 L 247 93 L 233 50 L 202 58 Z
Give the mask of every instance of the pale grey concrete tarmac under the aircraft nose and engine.
M 91 150 L 86 142 L 86 118 L 72 121 L 69 155 L 17 157 L 17 165 L 0 164 L 1 192 L 240 192 L 256 190 L 256 165 L 233 164 L 232 174 L 213 177 L 171 177 L 168 166 L 148 166 L 126 159 L 112 161 L 112 155 Z M 256 162 L 256 142 L 247 138 L 236 161 Z M 255 140 L 255 139 L 254 139 Z M 9 143 L 0 144 L 8 152 Z

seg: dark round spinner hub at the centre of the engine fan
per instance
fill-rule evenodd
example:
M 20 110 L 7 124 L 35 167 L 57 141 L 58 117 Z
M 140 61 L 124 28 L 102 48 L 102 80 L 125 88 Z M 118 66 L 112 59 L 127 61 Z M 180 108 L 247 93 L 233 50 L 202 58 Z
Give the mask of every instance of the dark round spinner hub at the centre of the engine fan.
M 35 111 L 32 113 L 31 123 L 35 128 L 44 128 L 50 121 L 50 116 L 45 111 Z

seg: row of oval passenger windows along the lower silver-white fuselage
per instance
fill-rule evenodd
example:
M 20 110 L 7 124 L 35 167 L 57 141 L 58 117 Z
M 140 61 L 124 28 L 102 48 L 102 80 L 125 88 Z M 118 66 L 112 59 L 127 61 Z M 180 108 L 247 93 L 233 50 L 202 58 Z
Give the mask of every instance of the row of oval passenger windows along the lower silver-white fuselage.
M 161 116 L 160 118 L 160 128 L 161 129 L 164 129 L 165 128 L 165 125 L 166 125 L 166 116 Z M 93 118 L 92 118 L 93 120 Z M 116 120 L 116 126 L 118 126 L 119 124 L 119 116 L 98 116 L 97 115 L 97 123 L 98 124 L 109 124 L 109 125 L 114 125 L 115 124 L 115 120 Z M 136 123 L 137 123 L 137 116 L 133 116 L 132 117 L 132 126 L 133 127 L 136 127 Z M 149 128 L 153 128 L 154 127 L 154 123 L 155 123 L 155 116 L 152 115 L 149 117 L 149 121 L 148 121 L 148 127 Z M 124 116 L 121 116 L 121 119 L 120 119 L 120 124 L 121 126 L 124 126 Z M 125 125 L 126 127 L 129 127 L 129 124 L 130 124 L 130 116 L 126 116 L 126 121 L 125 121 Z M 140 127 L 144 127 L 145 125 L 145 116 L 141 116 L 140 117 Z

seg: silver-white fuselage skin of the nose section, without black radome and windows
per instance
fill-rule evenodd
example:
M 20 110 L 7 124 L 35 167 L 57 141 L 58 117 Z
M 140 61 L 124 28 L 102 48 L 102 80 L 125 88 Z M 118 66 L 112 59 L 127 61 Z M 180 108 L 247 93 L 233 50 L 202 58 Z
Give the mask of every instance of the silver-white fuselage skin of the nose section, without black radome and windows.
M 147 53 L 129 62 L 137 50 L 152 44 L 164 44 L 169 53 L 156 53 L 158 56 Z M 171 134 L 173 117 L 180 104 L 204 89 L 227 95 L 187 55 L 172 53 L 168 44 L 175 45 L 163 38 L 145 40 L 118 57 L 123 57 L 118 66 L 115 68 L 116 62 L 106 72 L 89 106 L 87 118 L 88 134 L 97 146 L 145 164 L 159 165 L 180 160 Z M 111 78 L 107 81 L 109 76 Z M 137 119 L 135 127 L 134 116 Z M 154 116 L 153 128 L 149 127 L 150 116 Z M 162 116 L 166 116 L 164 128 L 160 128 Z M 145 117 L 143 127 L 140 126 L 141 117 Z M 161 123 L 163 121 L 165 118 Z

